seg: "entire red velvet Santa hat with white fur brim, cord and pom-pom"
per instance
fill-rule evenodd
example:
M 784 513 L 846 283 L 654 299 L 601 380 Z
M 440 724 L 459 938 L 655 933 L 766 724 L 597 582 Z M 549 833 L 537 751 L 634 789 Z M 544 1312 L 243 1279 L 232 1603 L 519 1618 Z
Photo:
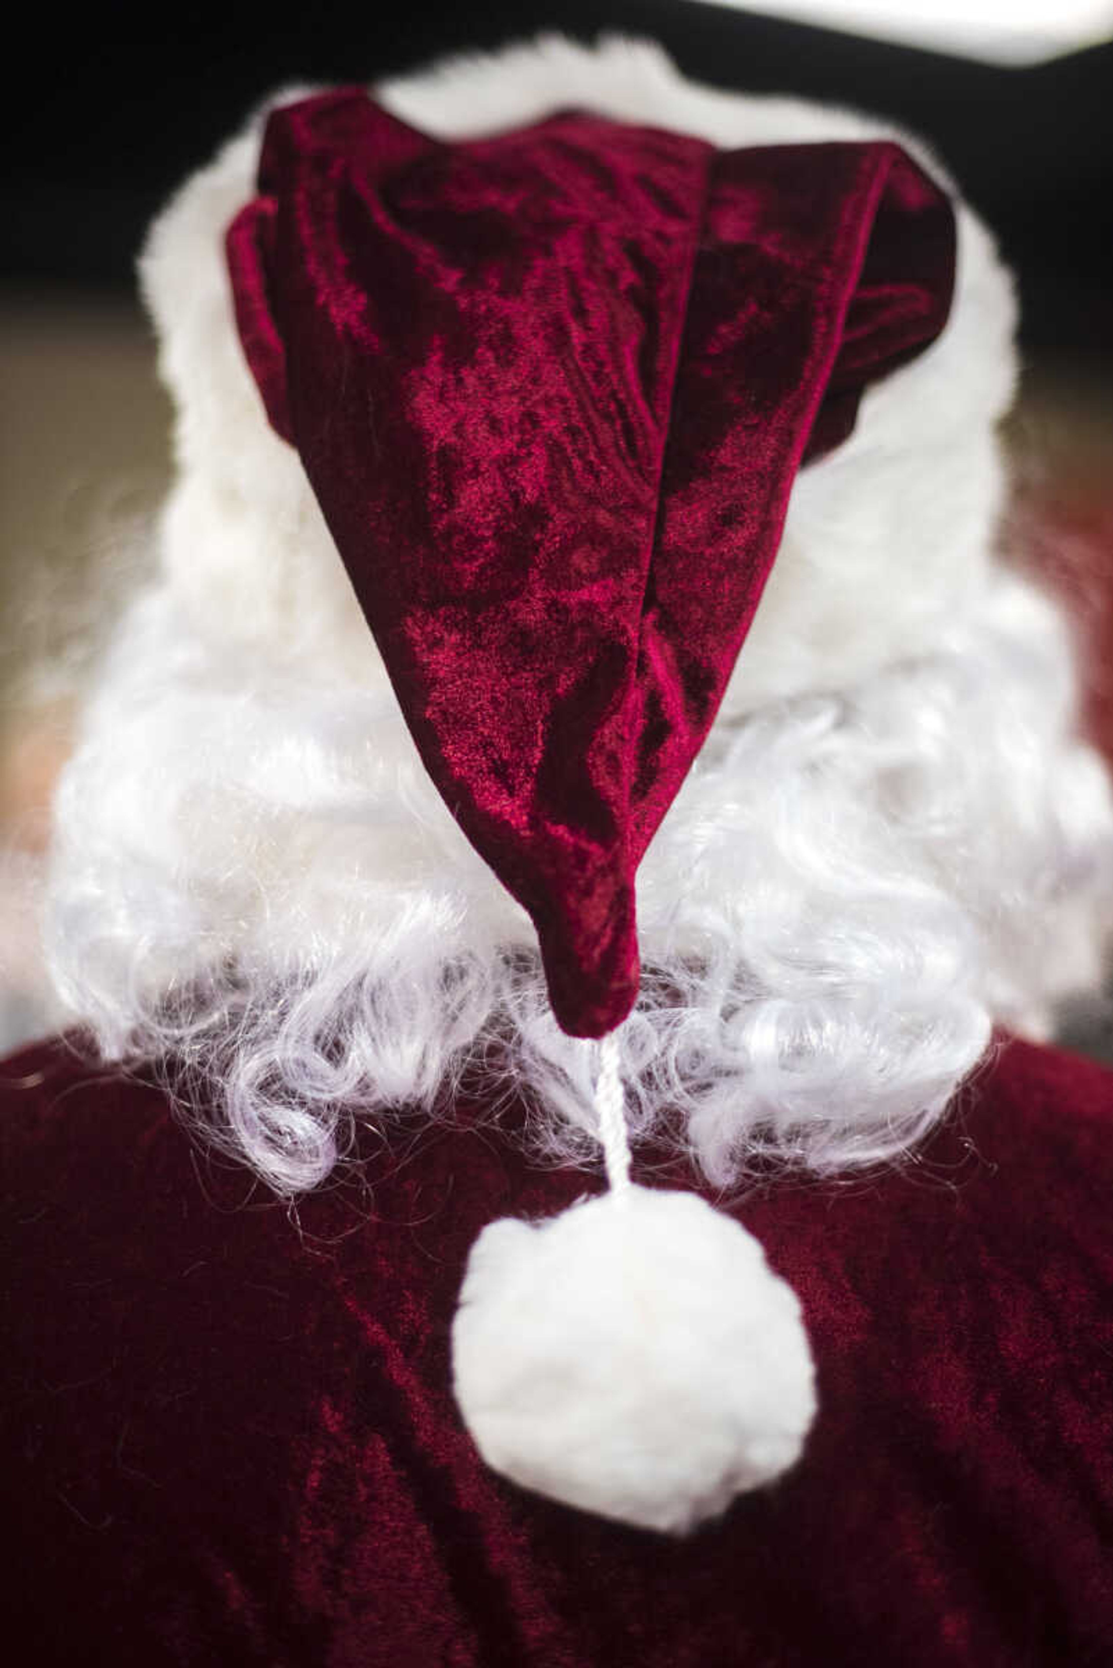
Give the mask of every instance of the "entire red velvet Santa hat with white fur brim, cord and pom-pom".
M 312 595 L 359 656 L 335 547 L 559 1022 L 601 1039 L 609 1191 L 481 1236 L 457 1398 L 516 1481 L 686 1530 L 796 1460 L 814 1386 L 756 1241 L 631 1181 L 637 864 L 724 699 L 924 651 L 976 585 L 1011 300 L 966 210 L 954 284 L 953 195 L 864 120 L 696 90 L 626 43 L 484 73 L 284 97 L 157 229 L 165 557 L 199 610 L 285 607 L 295 634 Z M 214 295 L 190 262 L 225 234 Z M 879 631 L 871 562 L 913 504 L 938 612 Z M 786 549 L 788 666 L 758 612 Z

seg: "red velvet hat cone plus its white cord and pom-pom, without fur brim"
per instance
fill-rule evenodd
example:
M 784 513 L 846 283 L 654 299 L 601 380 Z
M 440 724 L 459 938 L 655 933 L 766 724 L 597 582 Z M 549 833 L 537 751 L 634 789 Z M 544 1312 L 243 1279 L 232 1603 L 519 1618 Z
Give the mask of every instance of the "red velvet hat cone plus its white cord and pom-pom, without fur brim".
M 607 1037 L 611 1193 L 481 1236 L 464 1416 L 519 1481 L 687 1528 L 796 1458 L 814 1394 L 756 1241 L 629 1183 L 607 1034 L 637 997 L 636 871 L 798 469 L 946 322 L 951 205 L 888 142 L 716 150 L 569 110 L 444 143 L 349 88 L 270 115 L 227 249 L 424 764 L 529 911 L 562 1027 Z

